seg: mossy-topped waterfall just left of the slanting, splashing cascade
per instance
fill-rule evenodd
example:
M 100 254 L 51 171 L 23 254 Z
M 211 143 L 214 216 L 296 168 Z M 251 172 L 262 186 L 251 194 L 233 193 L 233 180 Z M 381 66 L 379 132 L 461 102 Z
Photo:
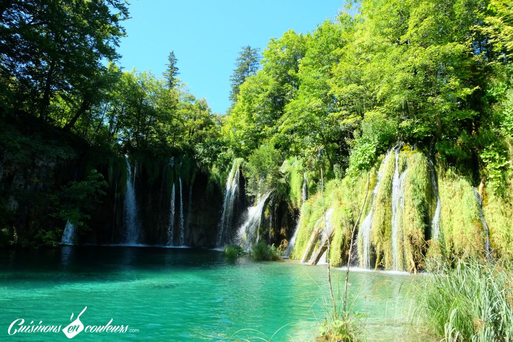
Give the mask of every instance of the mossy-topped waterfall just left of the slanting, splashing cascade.
M 218 240 L 216 245 L 221 247 L 224 243 L 228 241 L 227 236 L 230 233 L 232 214 L 233 214 L 233 202 L 236 197 L 236 193 L 239 188 L 239 164 L 236 161 L 233 161 L 233 165 L 228 175 L 228 179 L 226 180 L 226 192 L 225 198 L 223 202 L 223 215 L 221 216 L 221 221 L 219 223 L 219 231 L 218 231 Z

